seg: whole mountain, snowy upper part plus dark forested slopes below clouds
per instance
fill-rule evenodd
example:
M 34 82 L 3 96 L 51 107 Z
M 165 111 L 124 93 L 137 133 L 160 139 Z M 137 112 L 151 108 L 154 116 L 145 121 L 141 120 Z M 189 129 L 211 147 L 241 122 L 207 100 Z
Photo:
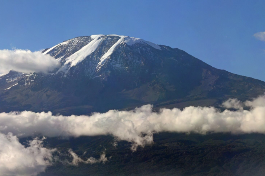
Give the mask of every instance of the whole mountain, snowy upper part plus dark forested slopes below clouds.
M 0 112 L 80 115 L 143 104 L 153 104 L 155 110 L 190 105 L 218 107 L 228 98 L 244 101 L 263 94 L 265 89 L 263 81 L 216 69 L 178 48 L 128 36 L 77 37 L 42 54 L 51 55 L 61 66 L 46 74 L 10 71 L 1 75 Z M 130 142 L 119 141 L 111 134 L 47 136 L 43 145 L 56 148 L 58 158 L 38 176 L 265 174 L 264 134 L 160 132 L 153 138 L 152 144 L 132 151 Z M 29 140 L 32 138 L 19 138 L 23 145 Z M 85 160 L 99 158 L 104 151 L 108 161 L 65 164 L 72 160 L 64 154 L 69 149 Z

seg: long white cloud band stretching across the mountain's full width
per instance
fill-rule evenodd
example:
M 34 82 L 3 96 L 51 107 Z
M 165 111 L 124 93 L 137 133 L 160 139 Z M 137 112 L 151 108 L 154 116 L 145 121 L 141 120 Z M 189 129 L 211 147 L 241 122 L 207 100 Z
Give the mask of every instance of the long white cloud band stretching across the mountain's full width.
M 131 142 L 132 150 L 151 144 L 153 133 L 158 132 L 265 134 L 265 97 L 244 103 L 229 99 L 223 105 L 237 110 L 190 106 L 153 112 L 152 105 L 144 105 L 132 111 L 110 110 L 91 116 L 54 116 L 51 112 L 31 111 L 0 113 L 0 132 L 20 137 L 112 135 L 117 140 Z M 250 110 L 244 110 L 245 105 Z

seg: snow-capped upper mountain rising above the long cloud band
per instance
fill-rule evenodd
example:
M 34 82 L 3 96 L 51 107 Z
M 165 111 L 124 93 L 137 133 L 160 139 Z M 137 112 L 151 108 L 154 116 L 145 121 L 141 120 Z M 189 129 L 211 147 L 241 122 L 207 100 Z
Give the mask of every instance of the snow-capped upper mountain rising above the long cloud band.
M 61 67 L 44 73 L 10 71 L 0 77 L 0 111 L 64 115 L 143 104 L 218 106 L 224 99 L 263 94 L 265 82 L 216 69 L 178 48 L 122 35 L 66 40 L 43 54 Z

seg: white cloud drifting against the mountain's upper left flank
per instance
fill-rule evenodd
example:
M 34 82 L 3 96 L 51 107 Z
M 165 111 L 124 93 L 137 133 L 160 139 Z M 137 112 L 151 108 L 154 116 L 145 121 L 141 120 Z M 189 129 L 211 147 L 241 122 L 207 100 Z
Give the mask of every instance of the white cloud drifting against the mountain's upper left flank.
M 47 73 L 57 67 L 60 67 L 57 60 L 50 55 L 43 55 L 41 51 L 0 50 L 0 74 L 8 73 L 10 70 Z

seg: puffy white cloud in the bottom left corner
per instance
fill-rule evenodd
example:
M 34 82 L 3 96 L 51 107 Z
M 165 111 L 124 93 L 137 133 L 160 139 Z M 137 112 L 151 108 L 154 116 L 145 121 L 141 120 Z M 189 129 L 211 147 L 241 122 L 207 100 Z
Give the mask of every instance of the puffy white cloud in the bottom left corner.
M 37 175 L 52 164 L 55 149 L 44 148 L 38 138 L 29 141 L 28 145 L 19 143 L 12 133 L 0 133 L 0 176 Z

